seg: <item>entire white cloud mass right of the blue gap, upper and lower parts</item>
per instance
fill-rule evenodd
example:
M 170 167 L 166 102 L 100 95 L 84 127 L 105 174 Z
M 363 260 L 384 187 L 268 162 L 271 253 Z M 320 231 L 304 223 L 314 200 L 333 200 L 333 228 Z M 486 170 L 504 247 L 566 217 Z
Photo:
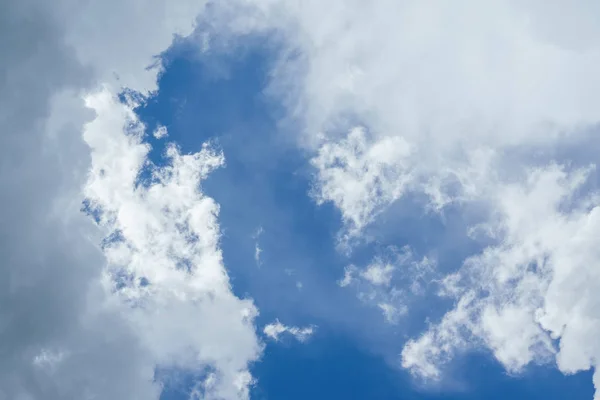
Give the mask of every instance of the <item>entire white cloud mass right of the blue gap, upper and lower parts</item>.
M 454 207 L 478 219 L 483 249 L 440 287 L 455 306 L 407 344 L 404 365 L 435 376 L 483 346 L 510 371 L 596 368 L 596 182 L 583 156 L 600 121 L 598 4 L 242 3 L 243 17 L 220 16 L 229 33 L 282 43 L 268 93 L 302 127 L 312 194 L 339 209 L 342 244 L 407 194 L 440 218 Z

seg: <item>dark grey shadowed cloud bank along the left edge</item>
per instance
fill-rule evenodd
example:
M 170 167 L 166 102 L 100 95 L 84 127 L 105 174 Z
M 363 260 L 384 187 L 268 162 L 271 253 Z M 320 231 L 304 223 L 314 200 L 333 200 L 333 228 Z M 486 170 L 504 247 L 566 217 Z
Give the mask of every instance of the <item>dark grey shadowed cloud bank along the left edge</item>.
M 78 201 L 89 76 L 44 4 L 3 2 L 0 16 L 0 397 L 157 398 L 134 332 L 104 305 L 100 236 Z

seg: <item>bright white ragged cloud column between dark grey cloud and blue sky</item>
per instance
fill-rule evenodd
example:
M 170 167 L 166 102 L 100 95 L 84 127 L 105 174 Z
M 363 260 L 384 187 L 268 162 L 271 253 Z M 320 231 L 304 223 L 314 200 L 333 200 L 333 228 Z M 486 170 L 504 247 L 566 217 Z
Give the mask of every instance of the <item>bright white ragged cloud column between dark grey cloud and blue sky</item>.
M 213 369 L 204 398 L 247 398 L 247 385 L 236 381 L 249 375 L 248 363 L 260 353 L 257 310 L 231 292 L 219 249 L 219 207 L 200 191 L 223 155 L 209 145 L 182 155 L 169 145 L 168 165 L 152 168 L 150 182 L 139 184 L 149 151 L 144 126 L 108 90 L 87 104 L 97 117 L 84 131 L 92 150 L 85 195 L 107 237 L 115 238 L 104 253 L 113 290 L 133 307 L 129 323 L 157 365 Z

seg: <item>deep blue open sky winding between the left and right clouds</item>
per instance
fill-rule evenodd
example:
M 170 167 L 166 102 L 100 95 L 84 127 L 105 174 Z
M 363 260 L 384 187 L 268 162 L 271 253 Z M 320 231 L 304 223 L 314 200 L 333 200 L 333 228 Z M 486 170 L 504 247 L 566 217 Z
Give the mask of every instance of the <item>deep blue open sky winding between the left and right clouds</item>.
M 486 354 L 453 362 L 437 388 L 416 385 L 396 367 L 406 334 L 423 327 L 425 314 L 441 315 L 445 305 L 417 304 L 417 316 L 408 321 L 412 329 L 389 325 L 355 292 L 339 287 L 344 267 L 364 265 L 390 245 L 410 245 L 421 256 L 431 249 L 443 253 L 443 268 L 451 270 L 481 244 L 448 234 L 466 228 L 458 211 L 441 220 L 424 212 L 418 199 L 407 198 L 369 228 L 373 240 L 349 258 L 337 252 L 340 215 L 308 196 L 307 155 L 295 146 L 289 127 L 281 131 L 282 110 L 264 94 L 274 51 L 264 38 L 204 53 L 180 41 L 163 55 L 159 91 L 137 110 L 148 133 L 167 127 L 167 138 L 147 137 L 157 165 L 164 163 L 167 142 L 186 153 L 209 140 L 223 150 L 226 166 L 203 182 L 203 190 L 221 206 L 225 265 L 236 294 L 252 297 L 259 307 L 259 329 L 275 318 L 319 327 L 307 343 L 267 345 L 253 366 L 252 399 L 591 398 L 587 373 L 565 377 L 550 367 L 531 367 L 511 377 Z M 163 400 L 186 399 L 201 379 L 181 371 L 159 375 L 178 377 L 167 379 Z

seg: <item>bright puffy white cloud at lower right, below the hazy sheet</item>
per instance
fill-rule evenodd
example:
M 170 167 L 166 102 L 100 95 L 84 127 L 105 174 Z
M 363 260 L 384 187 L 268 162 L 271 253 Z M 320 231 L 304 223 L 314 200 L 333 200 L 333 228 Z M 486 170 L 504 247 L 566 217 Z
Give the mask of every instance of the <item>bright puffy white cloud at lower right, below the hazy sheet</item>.
M 565 373 L 598 367 L 599 203 L 576 194 L 589 174 L 551 165 L 494 189 L 497 215 L 486 230 L 501 241 L 446 279 L 457 306 L 407 344 L 406 367 L 434 376 L 455 352 L 478 345 L 513 372 L 549 360 Z

